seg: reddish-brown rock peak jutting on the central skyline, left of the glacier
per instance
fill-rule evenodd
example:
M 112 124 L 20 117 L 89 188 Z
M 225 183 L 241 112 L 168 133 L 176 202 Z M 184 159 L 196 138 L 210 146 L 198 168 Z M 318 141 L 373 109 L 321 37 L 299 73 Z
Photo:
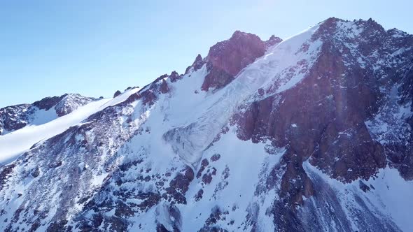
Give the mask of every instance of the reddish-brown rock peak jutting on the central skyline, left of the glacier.
M 209 49 L 207 69 L 202 90 L 221 89 L 231 82 L 235 75 L 251 64 L 256 58 L 264 55 L 265 43 L 253 34 L 235 31 L 228 41 L 219 42 Z

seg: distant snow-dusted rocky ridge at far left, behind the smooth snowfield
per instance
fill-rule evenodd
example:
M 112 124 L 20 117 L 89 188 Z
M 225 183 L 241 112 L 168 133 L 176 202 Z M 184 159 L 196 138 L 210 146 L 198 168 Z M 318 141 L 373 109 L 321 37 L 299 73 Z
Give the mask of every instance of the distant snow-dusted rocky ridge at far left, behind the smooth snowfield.
M 97 99 L 80 94 L 64 94 L 35 101 L 31 104 L 8 106 L 0 109 L 0 135 L 10 133 L 30 124 L 43 124 L 67 115 L 79 106 Z

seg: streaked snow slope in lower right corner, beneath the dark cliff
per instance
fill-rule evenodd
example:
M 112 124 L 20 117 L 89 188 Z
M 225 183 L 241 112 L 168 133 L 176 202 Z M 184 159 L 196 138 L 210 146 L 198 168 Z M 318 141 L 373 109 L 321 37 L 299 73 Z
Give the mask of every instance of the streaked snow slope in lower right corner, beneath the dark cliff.
M 318 210 L 318 213 L 323 210 L 335 210 L 343 208 L 343 212 L 348 218 L 360 218 L 367 221 L 370 215 L 363 215 L 365 211 L 371 211 L 374 215 L 379 215 L 381 220 L 384 220 L 392 225 L 392 227 L 398 227 L 401 231 L 409 231 L 412 228 L 411 216 L 409 215 L 413 202 L 413 182 L 405 181 L 397 170 L 391 168 L 384 168 L 377 173 L 376 176 L 370 177 L 369 180 L 357 180 L 351 184 L 343 184 L 335 179 L 323 174 L 320 170 L 314 168 L 310 164 L 305 164 L 307 173 L 309 173 L 311 179 L 320 186 L 325 186 L 321 190 L 321 194 L 316 196 L 316 200 L 319 202 L 326 202 L 325 205 L 320 205 L 313 199 L 306 199 L 307 203 L 311 205 L 303 208 L 303 214 L 314 213 L 314 210 Z M 339 205 L 332 205 L 328 194 L 335 194 L 335 198 Z M 326 200 L 326 201 L 325 201 Z M 327 204 L 328 203 L 328 204 Z M 330 205 L 331 204 L 331 205 Z M 337 210 L 338 211 L 338 210 Z M 361 215 L 360 215 L 361 214 Z M 335 219 L 330 218 L 323 224 L 323 228 L 334 230 Z M 342 222 L 343 223 L 343 222 Z M 343 223 L 345 224 L 345 223 Z M 360 224 L 362 226 L 360 226 Z M 371 226 L 372 230 L 382 231 L 383 229 L 391 231 L 395 228 L 375 228 L 374 225 L 362 224 L 360 222 L 349 222 L 349 229 L 352 231 L 360 231 L 364 227 Z M 378 226 L 377 226 L 378 227 Z

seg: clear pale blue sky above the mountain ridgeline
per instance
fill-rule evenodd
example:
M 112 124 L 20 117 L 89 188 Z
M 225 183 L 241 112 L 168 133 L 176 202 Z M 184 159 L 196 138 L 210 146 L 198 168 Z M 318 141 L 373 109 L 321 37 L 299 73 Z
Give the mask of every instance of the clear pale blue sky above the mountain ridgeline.
M 286 38 L 335 16 L 413 34 L 412 8 L 410 0 L 0 0 L 0 108 L 143 86 L 182 73 L 235 30 Z

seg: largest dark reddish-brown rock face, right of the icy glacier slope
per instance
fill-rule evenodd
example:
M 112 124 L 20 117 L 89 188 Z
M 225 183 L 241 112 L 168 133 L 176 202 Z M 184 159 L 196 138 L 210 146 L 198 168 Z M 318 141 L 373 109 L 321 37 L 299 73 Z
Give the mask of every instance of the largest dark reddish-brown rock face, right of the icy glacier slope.
M 337 24 L 340 22 L 334 18 L 326 20 L 314 34 L 313 39 L 321 39 L 323 45 L 316 63 L 302 82 L 245 106 L 245 112 L 235 115 L 235 121 L 239 125 L 239 138 L 251 138 L 253 143 L 272 138 L 276 146 L 288 147 L 289 162 L 296 160 L 291 157 L 300 157 L 295 161 L 296 166 L 309 159 L 331 177 L 351 182 L 358 177 L 368 179 L 386 166 L 386 145 L 374 140 L 365 125 L 377 114 L 384 95 L 373 67 L 360 65 L 342 39 L 335 40 L 332 36 L 339 33 Z M 348 41 L 364 46 L 362 50 L 367 59 L 374 48 L 383 47 L 386 40 L 391 41 L 387 32 L 377 25 L 372 21 L 360 22 L 360 27 L 366 28 L 365 37 Z M 377 40 L 367 34 L 379 34 L 382 38 Z M 388 71 L 386 75 L 395 73 Z M 391 153 L 388 155 L 392 157 Z M 406 164 L 405 160 L 403 163 Z M 297 175 L 295 173 L 302 180 L 298 189 L 307 189 L 302 191 L 311 195 L 311 182 L 303 176 L 302 168 L 288 168 L 287 165 L 283 180 Z M 281 189 L 291 196 L 292 189 L 288 185 Z M 293 201 L 300 203 L 301 199 Z

